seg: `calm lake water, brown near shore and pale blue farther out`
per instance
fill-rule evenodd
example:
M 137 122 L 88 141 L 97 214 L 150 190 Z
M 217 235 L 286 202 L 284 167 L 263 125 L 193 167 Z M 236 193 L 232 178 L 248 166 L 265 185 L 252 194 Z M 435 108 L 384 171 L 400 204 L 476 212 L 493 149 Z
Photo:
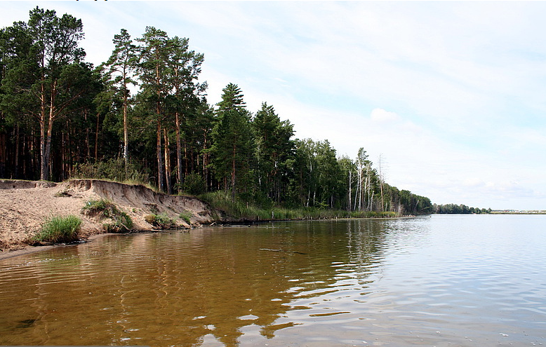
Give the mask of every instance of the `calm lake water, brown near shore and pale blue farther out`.
M 540 346 L 546 216 L 274 222 L 0 261 L 0 345 Z

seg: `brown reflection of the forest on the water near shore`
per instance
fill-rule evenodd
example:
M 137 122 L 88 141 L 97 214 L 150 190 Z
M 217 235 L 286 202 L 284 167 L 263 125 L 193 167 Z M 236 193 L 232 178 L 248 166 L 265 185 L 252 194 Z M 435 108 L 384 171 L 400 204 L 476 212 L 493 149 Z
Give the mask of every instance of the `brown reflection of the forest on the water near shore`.
M 338 226 L 112 236 L 31 254 L 24 264 L 15 258 L 1 268 L 1 304 L 12 314 L 0 318 L 0 343 L 191 346 L 213 336 L 237 346 L 248 327 L 272 338 L 301 324 L 277 322 L 287 311 L 345 313 L 314 298 L 355 285 L 366 294 L 382 229 L 372 221 Z

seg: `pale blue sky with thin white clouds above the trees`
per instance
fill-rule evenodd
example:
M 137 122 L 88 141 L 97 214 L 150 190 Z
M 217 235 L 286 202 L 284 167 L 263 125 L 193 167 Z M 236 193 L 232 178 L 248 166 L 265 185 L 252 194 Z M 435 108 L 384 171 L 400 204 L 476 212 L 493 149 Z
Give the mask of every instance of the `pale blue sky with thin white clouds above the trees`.
M 546 210 L 546 2 L 0 1 L 0 27 L 36 6 L 81 18 L 95 65 L 122 28 L 186 37 L 210 104 L 235 83 L 432 203 Z

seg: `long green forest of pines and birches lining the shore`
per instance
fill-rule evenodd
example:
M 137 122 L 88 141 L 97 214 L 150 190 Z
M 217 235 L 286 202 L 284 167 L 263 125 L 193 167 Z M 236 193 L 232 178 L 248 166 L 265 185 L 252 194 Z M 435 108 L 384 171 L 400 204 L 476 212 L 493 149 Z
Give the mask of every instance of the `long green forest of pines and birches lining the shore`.
M 262 207 L 434 212 L 429 198 L 384 182 L 364 149 L 338 157 L 327 140 L 295 139 L 267 102 L 248 110 L 237 84 L 208 104 L 204 55 L 186 38 L 121 29 L 97 67 L 83 38 L 81 20 L 38 7 L 1 29 L 1 178 L 130 180 Z

